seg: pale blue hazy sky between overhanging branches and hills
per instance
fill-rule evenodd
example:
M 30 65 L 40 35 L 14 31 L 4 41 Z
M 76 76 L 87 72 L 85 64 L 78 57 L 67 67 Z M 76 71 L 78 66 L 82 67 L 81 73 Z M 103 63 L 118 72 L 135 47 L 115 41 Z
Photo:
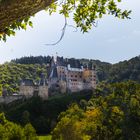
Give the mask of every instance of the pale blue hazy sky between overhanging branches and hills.
M 48 16 L 39 12 L 34 18 L 34 28 L 17 31 L 15 37 L 0 43 L 0 63 L 22 56 L 55 55 L 99 59 L 116 63 L 140 55 L 140 0 L 122 0 L 122 8 L 131 9 L 131 20 L 120 20 L 105 16 L 98 27 L 82 34 L 68 27 L 63 40 L 56 46 L 45 44 L 56 42 L 64 24 L 58 14 Z M 69 20 L 69 24 L 73 24 Z

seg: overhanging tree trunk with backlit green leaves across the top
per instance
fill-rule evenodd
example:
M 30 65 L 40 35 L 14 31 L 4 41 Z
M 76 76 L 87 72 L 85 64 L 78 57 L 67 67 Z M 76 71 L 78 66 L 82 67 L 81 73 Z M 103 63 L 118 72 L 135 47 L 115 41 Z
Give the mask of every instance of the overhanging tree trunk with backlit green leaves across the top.
M 119 2 L 121 0 L 0 0 L 0 40 L 6 41 L 7 36 L 15 35 L 15 30 L 32 26 L 30 17 L 41 10 L 50 14 L 59 11 L 65 19 L 72 13 L 76 27 L 82 32 L 96 26 L 96 20 L 105 14 L 129 18 L 131 11 L 120 9 Z

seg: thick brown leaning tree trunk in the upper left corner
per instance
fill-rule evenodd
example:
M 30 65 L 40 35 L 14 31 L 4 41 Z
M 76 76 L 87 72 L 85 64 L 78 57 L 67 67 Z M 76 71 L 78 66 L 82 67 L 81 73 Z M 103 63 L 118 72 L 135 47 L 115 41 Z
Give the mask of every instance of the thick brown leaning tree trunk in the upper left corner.
M 45 9 L 54 0 L 2 0 L 0 1 L 0 32 L 13 22 L 32 16 Z

